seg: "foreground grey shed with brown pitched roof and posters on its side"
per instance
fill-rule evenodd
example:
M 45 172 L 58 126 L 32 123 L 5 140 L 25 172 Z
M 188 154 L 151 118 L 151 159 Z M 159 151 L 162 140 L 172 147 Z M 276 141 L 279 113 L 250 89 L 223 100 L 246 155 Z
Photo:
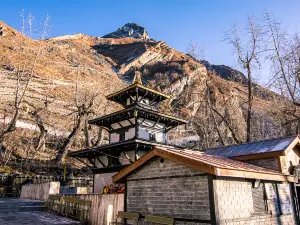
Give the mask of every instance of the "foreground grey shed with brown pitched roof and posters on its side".
M 113 181 L 125 183 L 125 211 L 142 217 L 172 217 L 175 224 L 296 224 L 293 176 L 221 156 L 155 147 Z

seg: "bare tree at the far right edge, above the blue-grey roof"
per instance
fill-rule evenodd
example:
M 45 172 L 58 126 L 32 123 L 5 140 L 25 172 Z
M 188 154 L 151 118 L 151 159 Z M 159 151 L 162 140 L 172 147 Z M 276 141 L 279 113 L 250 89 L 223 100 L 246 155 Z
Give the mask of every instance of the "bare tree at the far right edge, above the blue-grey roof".
M 268 86 L 286 98 L 280 119 L 286 135 L 300 131 L 300 41 L 297 34 L 289 35 L 282 24 L 266 10 L 264 12 L 267 59 L 271 61 L 272 77 Z M 290 104 L 290 101 L 293 105 Z

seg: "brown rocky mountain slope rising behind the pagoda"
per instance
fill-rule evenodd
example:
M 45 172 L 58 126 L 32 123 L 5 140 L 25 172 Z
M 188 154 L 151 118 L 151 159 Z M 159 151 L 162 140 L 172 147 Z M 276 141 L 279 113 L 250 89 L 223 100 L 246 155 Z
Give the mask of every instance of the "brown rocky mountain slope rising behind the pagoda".
M 26 158 L 37 164 L 53 160 L 74 127 L 78 104 L 93 99 L 89 118 L 121 109 L 108 103 L 105 96 L 125 87 L 135 71 L 142 73 L 145 85 L 172 96 L 161 111 L 190 121 L 188 126 L 175 129 L 171 140 L 193 137 L 198 140 L 196 147 L 205 148 L 219 145 L 220 137 L 225 144 L 234 143 L 233 136 L 241 141 L 245 138 L 245 76 L 230 67 L 194 59 L 164 41 L 149 39 L 145 28 L 137 24 L 125 24 L 101 38 L 75 34 L 33 40 L 0 22 L 0 34 L 2 127 L 14 112 L 17 72 L 22 74 L 22 90 L 33 71 L 17 131 L 5 141 L 9 160 Z M 253 139 L 281 134 L 281 102 L 281 96 L 256 85 Z M 33 116 L 37 109 L 40 120 Z M 44 151 L 34 147 L 39 121 L 48 131 Z M 97 136 L 95 128 L 88 129 L 91 138 Z M 78 134 L 70 150 L 84 146 L 83 136 L 83 132 Z

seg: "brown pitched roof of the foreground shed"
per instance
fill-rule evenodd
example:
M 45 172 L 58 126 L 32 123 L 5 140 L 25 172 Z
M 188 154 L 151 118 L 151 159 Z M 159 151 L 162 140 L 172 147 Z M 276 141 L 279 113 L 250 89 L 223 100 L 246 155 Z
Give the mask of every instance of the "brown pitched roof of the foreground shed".
M 240 177 L 249 179 L 294 182 L 293 176 L 285 175 L 275 170 L 250 165 L 221 156 L 206 155 L 198 151 L 176 148 L 171 149 L 166 147 L 155 147 L 154 150 L 143 155 L 133 164 L 114 175 L 113 181 L 124 181 L 124 178 L 131 172 L 156 156 L 167 158 L 171 161 L 175 161 L 220 177 Z

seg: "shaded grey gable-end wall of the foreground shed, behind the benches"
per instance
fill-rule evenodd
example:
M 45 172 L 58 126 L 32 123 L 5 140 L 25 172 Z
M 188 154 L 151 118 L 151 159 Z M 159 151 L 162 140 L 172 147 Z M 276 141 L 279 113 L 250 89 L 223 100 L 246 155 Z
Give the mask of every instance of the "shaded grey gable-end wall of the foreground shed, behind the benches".
M 128 177 L 127 211 L 172 217 L 175 224 L 205 224 L 210 221 L 208 190 L 206 173 L 155 158 Z

